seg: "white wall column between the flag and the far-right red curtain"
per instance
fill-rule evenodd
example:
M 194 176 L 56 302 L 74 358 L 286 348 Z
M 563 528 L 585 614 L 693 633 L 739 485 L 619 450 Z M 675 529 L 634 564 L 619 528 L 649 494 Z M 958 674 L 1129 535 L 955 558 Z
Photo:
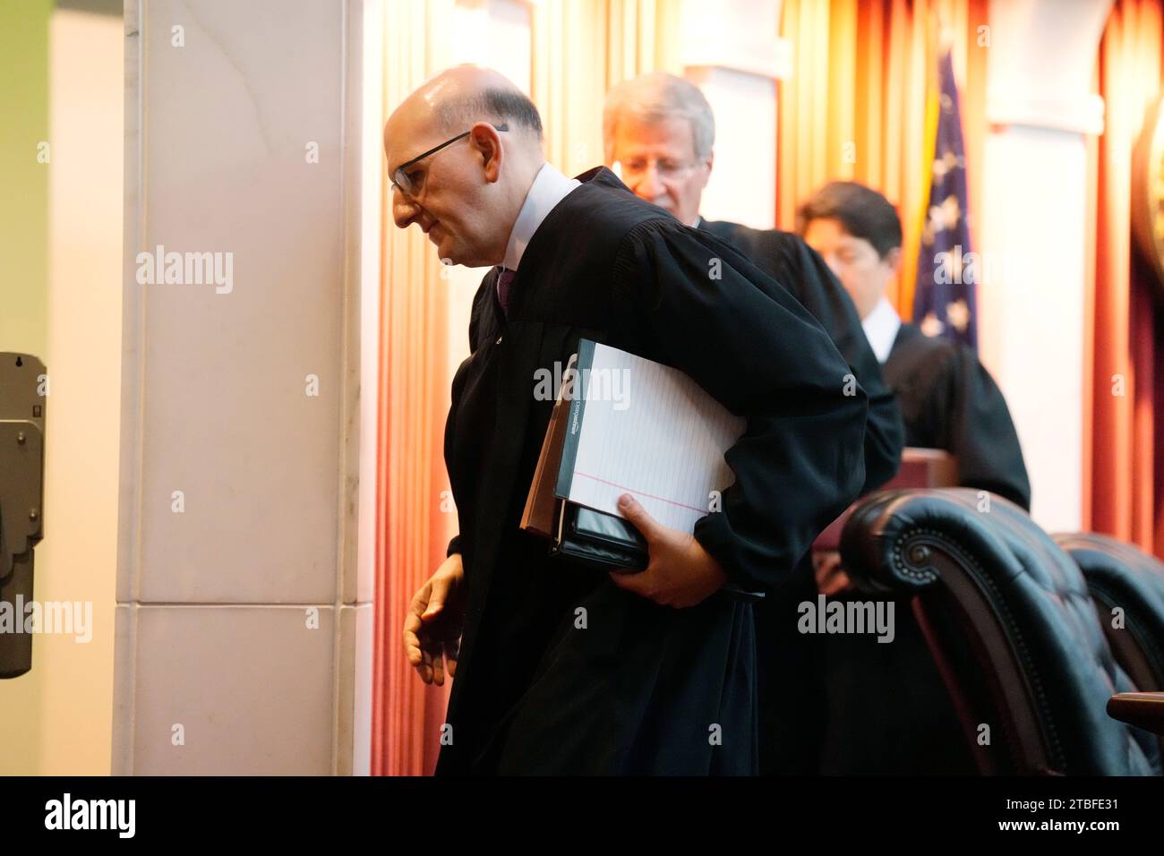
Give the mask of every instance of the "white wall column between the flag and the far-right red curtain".
M 979 221 L 996 273 L 979 285 L 979 349 L 1018 431 L 1031 516 L 1049 532 L 1081 524 L 1086 135 L 1103 128 L 1091 80 L 1110 5 L 991 3 Z

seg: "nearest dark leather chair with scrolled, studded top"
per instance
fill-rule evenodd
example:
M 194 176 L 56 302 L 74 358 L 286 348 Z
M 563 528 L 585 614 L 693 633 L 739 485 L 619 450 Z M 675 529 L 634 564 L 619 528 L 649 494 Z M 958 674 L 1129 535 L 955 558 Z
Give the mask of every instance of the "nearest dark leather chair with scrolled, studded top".
M 1152 735 L 1107 715 L 1137 687 L 1079 566 L 1018 507 L 968 488 L 873 494 L 840 550 L 866 590 L 911 609 L 984 774 L 1159 774 Z

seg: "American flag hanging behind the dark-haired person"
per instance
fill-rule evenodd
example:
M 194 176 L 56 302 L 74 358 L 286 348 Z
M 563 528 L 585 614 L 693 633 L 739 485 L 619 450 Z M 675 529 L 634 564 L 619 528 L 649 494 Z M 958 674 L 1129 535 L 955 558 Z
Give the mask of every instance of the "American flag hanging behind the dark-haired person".
M 977 347 L 974 283 L 980 271 L 970 255 L 966 149 L 949 50 L 942 57 L 938 77 L 937 134 L 917 256 L 914 321 L 927 335 L 942 335 Z

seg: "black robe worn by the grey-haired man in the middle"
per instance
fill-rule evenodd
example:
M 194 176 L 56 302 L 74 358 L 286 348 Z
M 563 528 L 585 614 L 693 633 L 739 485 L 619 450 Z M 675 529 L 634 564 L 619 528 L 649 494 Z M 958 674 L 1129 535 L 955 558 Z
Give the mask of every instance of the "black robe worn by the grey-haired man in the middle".
M 821 255 L 789 232 L 754 229 L 725 220 L 698 227 L 738 248 L 786 288 L 829 333 L 870 397 L 865 427 L 865 484 L 875 490 L 901 464 L 904 429 L 893 390 L 861 330 L 857 306 Z M 818 770 L 825 736 L 824 643 L 797 630 L 799 606 L 816 599 L 809 557 L 776 596 L 755 608 L 760 695 L 760 771 L 808 774 Z M 789 651 L 796 651 L 795 657 Z M 799 703 L 787 707 L 789 687 Z

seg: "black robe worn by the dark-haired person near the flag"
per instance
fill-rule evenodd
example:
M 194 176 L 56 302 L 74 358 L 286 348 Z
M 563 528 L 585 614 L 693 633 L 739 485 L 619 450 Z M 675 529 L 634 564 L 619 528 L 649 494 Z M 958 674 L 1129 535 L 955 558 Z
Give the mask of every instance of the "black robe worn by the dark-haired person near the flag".
M 1006 401 L 970 347 L 902 324 L 885 365 L 909 446 L 958 458 L 958 481 L 1030 507 L 1030 483 Z M 842 600 L 868 600 L 850 593 Z M 973 774 L 973 757 L 909 597 L 894 597 L 896 638 L 825 641 L 829 774 Z

